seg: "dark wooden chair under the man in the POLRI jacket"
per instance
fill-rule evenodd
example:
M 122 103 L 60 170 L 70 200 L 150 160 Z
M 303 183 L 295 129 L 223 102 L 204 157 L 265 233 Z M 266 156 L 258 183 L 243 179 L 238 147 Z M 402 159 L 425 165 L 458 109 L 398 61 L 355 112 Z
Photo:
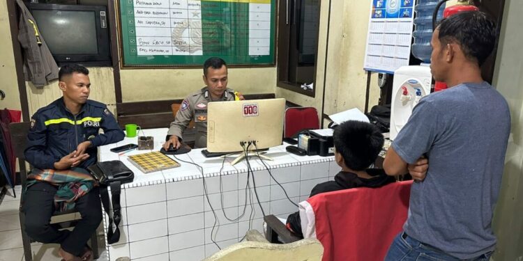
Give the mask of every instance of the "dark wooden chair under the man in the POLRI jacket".
M 15 150 L 15 155 L 18 158 L 18 166 L 20 166 L 20 180 L 22 182 L 22 191 L 24 191 L 26 186 L 26 180 L 27 180 L 27 169 L 26 169 L 26 161 L 24 156 L 24 150 L 27 145 L 27 133 L 29 132 L 29 122 L 16 122 L 16 123 L 10 123 L 9 130 L 11 134 L 11 142 L 13 143 L 13 149 Z M 22 212 L 22 206 L 24 204 L 24 196 L 22 193 L 22 196 L 20 197 L 20 208 L 19 208 L 19 214 L 20 214 L 20 230 L 22 231 L 22 245 L 24 246 L 24 258 L 26 261 L 32 261 L 33 260 L 33 253 L 31 253 L 31 242 L 34 242 L 33 239 L 29 237 L 29 235 L 25 232 L 25 213 Z M 54 212 L 53 216 L 62 216 L 66 214 L 72 214 L 76 211 L 69 210 L 66 212 Z M 63 228 L 73 228 L 76 226 L 77 220 L 71 219 L 68 221 L 61 221 L 58 223 L 52 223 L 53 226 L 58 227 L 59 229 Z M 97 232 L 93 232 L 93 235 L 91 235 L 91 248 L 93 248 L 93 258 L 96 259 L 100 256 L 100 253 L 98 252 L 98 238 Z

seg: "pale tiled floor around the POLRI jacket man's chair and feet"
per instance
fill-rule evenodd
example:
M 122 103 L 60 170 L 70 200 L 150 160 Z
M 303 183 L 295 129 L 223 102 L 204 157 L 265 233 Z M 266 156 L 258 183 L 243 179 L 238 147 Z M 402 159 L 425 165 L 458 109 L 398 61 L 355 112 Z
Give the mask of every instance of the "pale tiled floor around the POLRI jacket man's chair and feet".
M 17 198 L 13 198 L 13 190 L 9 189 L 0 203 L 0 261 L 25 260 L 24 248 L 22 248 L 22 235 L 20 233 L 20 219 L 18 219 L 18 205 L 20 205 L 21 187 L 15 187 Z M 98 229 L 98 249 L 100 258 L 107 260 L 105 251 L 105 240 L 101 227 Z M 58 244 L 31 244 L 33 260 L 55 261 L 60 260 L 58 255 Z

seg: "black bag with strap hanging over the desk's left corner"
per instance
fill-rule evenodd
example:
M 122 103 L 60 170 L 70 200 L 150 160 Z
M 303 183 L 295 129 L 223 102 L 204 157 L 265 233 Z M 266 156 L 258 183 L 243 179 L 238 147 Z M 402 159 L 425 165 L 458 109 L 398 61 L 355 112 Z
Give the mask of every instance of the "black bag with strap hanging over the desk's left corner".
M 135 178 L 135 173 L 123 164 L 122 161 L 104 161 L 97 162 L 87 167 L 91 175 L 100 183 L 100 198 L 102 199 L 103 209 L 109 216 L 109 226 L 107 226 L 107 243 L 114 244 L 120 239 L 120 229 L 118 225 L 121 221 L 121 205 L 120 205 L 120 186 L 121 184 L 132 182 Z M 109 192 L 107 187 L 111 187 L 112 195 L 112 214 L 111 202 L 109 202 Z M 114 220 L 114 230 L 113 230 Z

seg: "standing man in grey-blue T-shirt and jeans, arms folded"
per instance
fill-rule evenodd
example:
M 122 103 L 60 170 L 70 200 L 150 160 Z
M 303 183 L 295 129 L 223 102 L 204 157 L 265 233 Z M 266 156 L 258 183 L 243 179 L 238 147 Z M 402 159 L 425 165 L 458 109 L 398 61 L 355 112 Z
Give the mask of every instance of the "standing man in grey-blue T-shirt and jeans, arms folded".
M 450 88 L 420 100 L 388 150 L 388 175 L 427 157 L 415 178 L 404 231 L 386 260 L 489 260 L 496 246 L 492 214 L 510 134 L 506 100 L 483 81 L 494 49 L 494 21 L 478 11 L 444 19 L 432 35 L 430 68 Z

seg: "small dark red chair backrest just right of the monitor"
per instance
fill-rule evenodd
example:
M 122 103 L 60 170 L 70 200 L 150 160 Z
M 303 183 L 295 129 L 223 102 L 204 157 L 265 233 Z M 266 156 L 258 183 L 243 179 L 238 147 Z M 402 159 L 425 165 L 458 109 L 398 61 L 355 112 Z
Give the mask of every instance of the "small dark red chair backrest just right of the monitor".
M 316 111 L 316 108 L 287 108 L 287 110 L 285 110 L 283 136 L 290 138 L 303 129 L 319 129 L 318 111 Z

